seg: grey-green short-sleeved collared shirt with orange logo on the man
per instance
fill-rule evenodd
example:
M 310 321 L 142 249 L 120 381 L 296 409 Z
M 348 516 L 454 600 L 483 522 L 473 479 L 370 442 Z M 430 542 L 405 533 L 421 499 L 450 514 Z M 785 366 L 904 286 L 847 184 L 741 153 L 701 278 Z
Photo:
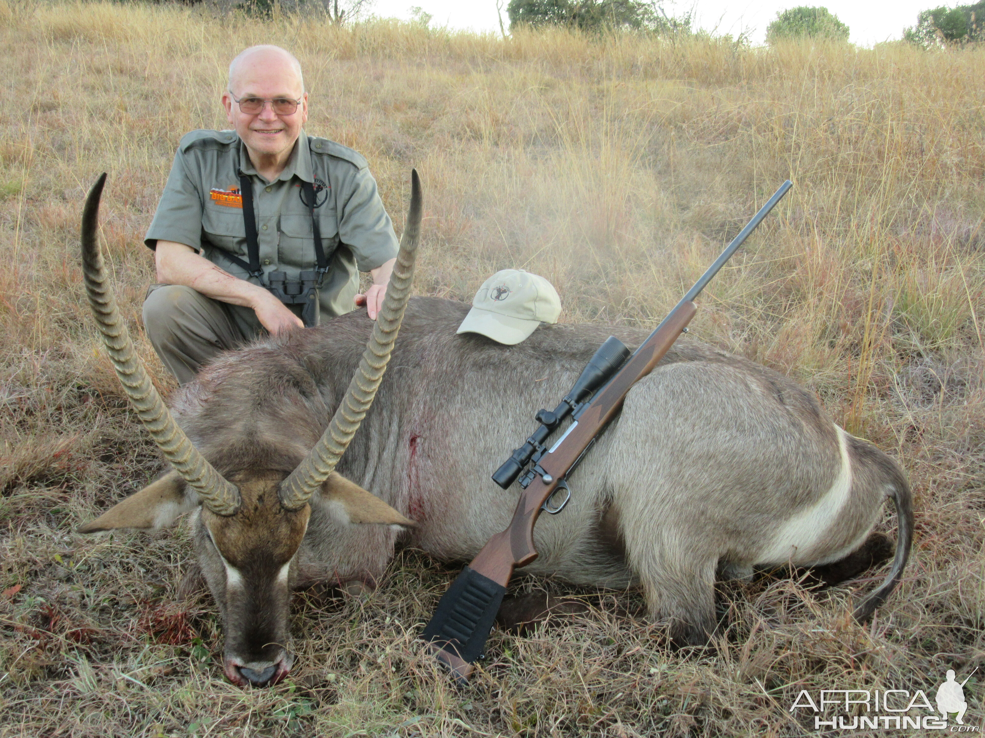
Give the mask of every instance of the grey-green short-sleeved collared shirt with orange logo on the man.
M 315 268 L 311 214 L 300 184 L 311 182 L 330 267 L 320 291 L 321 312 L 334 316 L 352 310 L 359 272 L 394 258 L 399 244 L 366 160 L 328 139 L 301 131 L 288 165 L 268 182 L 253 167 L 235 132 L 192 131 L 178 145 L 144 243 L 152 249 L 159 238 L 186 244 L 230 275 L 256 283 L 229 258 L 232 254 L 249 262 L 240 172 L 253 183 L 264 281 L 270 272 L 296 279 L 299 272 Z

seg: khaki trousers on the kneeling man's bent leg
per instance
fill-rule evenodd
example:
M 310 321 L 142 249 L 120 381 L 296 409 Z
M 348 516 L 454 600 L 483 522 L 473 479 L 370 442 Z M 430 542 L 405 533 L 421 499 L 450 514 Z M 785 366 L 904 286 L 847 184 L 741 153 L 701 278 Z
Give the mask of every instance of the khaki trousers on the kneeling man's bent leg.
M 213 300 L 180 284 L 152 284 L 144 326 L 154 350 L 179 384 L 222 351 L 267 335 L 250 308 Z

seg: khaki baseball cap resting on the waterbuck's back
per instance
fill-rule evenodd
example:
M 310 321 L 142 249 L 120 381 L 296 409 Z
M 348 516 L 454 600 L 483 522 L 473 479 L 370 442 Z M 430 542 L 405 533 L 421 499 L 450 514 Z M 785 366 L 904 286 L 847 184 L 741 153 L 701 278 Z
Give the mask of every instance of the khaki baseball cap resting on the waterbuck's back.
M 513 345 L 542 322 L 557 323 L 558 315 L 560 298 L 551 282 L 522 269 L 504 269 L 483 282 L 456 333 L 482 334 Z

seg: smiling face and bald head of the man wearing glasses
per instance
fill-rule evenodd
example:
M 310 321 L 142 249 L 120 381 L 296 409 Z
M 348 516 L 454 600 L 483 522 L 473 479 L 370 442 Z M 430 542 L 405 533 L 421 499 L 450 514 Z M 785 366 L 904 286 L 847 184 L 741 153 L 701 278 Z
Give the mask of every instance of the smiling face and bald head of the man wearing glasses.
M 300 99 L 291 115 L 278 115 L 267 102 L 259 113 L 248 114 L 235 100 L 260 97 Z M 237 58 L 230 70 L 230 87 L 223 94 L 230 123 L 246 144 L 254 165 L 273 156 L 287 158 L 307 120 L 307 92 L 292 57 L 277 47 L 259 47 Z M 261 159 L 261 160 L 258 160 Z

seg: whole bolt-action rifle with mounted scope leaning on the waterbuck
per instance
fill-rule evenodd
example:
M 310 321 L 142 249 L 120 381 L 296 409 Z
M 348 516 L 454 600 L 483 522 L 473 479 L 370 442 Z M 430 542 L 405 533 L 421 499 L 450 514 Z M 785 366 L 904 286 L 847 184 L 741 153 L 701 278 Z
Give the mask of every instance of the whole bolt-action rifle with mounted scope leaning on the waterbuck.
M 780 186 L 631 356 L 619 338 L 606 340 L 592 356 L 571 392 L 553 411 L 542 409 L 537 413 L 540 427 L 496 469 L 493 481 L 503 489 L 517 477 L 520 479 L 523 492 L 513 520 L 509 527 L 490 538 L 479 555 L 448 587 L 423 634 L 431 650 L 459 682 L 468 681 L 475 660 L 483 655 L 513 570 L 537 558 L 534 524 L 541 511 L 557 515 L 564 509 L 571 496 L 567 476 L 622 409 L 623 400 L 632 386 L 653 371 L 674 341 L 688 331 L 688 324 L 697 312 L 694 298 L 792 186 L 790 180 Z M 571 424 L 548 448 L 545 442 L 568 415 L 572 418 Z M 530 463 L 533 465 L 524 472 Z M 555 503 L 558 490 L 565 496 Z

